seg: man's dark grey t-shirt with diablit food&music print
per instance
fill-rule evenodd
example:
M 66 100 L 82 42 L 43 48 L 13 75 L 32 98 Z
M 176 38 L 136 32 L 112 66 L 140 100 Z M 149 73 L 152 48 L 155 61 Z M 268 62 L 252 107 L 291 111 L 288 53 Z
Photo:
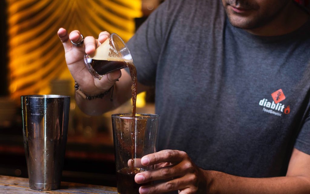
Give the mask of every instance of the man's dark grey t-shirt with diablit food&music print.
M 244 177 L 285 176 L 293 147 L 310 154 L 310 21 L 261 37 L 221 1 L 166 0 L 127 44 L 156 88 L 159 150 Z

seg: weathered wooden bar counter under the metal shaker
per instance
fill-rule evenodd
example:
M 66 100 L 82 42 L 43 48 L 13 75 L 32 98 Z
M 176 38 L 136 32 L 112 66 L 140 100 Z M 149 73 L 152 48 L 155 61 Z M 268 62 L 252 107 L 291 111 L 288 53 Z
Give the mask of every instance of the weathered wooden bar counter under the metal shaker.
M 29 179 L 0 175 L 1 194 L 117 194 L 117 188 L 80 183 L 61 182 L 59 190 L 37 191 L 29 188 Z

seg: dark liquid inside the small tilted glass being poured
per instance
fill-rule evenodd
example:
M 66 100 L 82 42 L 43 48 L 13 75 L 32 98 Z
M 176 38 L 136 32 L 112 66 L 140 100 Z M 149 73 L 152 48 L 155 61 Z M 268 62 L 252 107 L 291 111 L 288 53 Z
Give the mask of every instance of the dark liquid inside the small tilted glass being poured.
M 124 61 L 106 61 L 106 60 L 91 60 L 92 68 L 99 74 L 105 75 L 114 70 L 120 70 L 127 67 Z

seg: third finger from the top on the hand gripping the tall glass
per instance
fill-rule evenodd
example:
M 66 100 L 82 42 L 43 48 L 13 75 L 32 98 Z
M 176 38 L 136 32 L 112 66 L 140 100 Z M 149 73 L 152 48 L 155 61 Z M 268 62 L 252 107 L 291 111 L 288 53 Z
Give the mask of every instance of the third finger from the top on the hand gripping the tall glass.
M 163 182 L 159 184 L 154 184 L 150 186 L 141 186 L 139 188 L 139 193 L 146 194 L 146 193 L 164 193 L 164 192 L 171 192 L 176 190 L 185 189 L 187 186 L 186 178 L 176 178 L 172 179 L 168 182 Z

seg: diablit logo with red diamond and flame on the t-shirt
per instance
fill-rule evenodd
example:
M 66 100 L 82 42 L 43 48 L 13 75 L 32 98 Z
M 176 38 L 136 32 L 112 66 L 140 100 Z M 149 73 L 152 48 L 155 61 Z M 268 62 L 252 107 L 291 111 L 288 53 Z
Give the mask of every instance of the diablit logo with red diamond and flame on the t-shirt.
M 285 100 L 285 95 L 282 89 L 279 89 L 273 92 L 271 94 L 271 97 L 272 97 L 272 102 L 269 102 L 267 98 L 264 98 L 259 101 L 259 105 L 263 106 L 264 112 L 277 115 L 277 116 L 282 116 L 282 113 L 286 115 L 290 113 L 290 106 L 289 105 L 285 106 L 284 104 L 280 103 L 281 101 Z

